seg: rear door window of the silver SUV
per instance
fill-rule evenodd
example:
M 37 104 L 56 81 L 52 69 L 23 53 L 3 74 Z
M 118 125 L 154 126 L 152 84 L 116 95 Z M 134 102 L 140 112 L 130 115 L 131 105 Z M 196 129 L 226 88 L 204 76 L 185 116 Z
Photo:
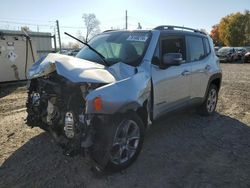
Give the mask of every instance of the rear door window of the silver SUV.
M 188 36 L 187 42 L 188 42 L 188 48 L 189 48 L 189 60 L 190 61 L 199 61 L 206 56 L 203 41 L 201 37 Z

